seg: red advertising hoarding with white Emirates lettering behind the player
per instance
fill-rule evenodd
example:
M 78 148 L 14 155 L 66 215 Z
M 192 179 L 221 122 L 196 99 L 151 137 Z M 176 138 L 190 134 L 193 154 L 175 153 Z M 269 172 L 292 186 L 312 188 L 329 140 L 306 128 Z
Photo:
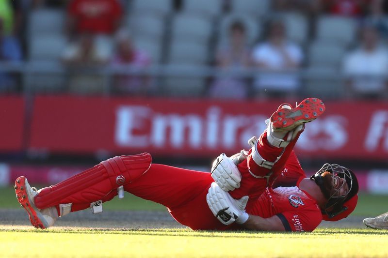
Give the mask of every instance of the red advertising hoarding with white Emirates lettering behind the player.
M 326 102 L 296 152 L 304 157 L 386 159 L 388 103 Z M 248 149 L 278 102 L 39 96 L 30 148 L 50 152 L 216 156 Z

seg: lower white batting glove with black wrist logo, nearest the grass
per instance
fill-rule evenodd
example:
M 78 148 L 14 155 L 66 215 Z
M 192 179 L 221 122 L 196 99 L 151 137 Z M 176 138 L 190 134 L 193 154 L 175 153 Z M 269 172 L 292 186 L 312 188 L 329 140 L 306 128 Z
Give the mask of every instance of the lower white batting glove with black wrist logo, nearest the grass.
M 233 199 L 215 182 L 211 183 L 206 195 L 210 211 L 224 225 L 230 225 L 233 222 L 242 224 L 247 221 L 248 214 L 245 212 L 245 206 L 248 198 L 244 196 L 239 200 Z

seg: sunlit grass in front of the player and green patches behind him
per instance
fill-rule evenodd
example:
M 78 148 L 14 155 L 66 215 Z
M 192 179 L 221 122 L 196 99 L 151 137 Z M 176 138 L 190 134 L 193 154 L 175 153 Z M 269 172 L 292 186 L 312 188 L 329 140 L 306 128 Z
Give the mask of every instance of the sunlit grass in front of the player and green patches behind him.
M 360 194 L 353 215 L 387 212 L 387 196 Z M 13 188 L 0 188 L 0 208 L 21 209 Z M 165 210 L 126 193 L 110 210 Z M 1 212 L 1 210 L 0 210 Z M 1 218 L 1 214 L 0 214 Z M 27 217 L 26 217 L 27 219 Z M 0 225 L 0 257 L 388 257 L 388 230 L 318 228 L 312 233 L 190 229 L 13 228 Z

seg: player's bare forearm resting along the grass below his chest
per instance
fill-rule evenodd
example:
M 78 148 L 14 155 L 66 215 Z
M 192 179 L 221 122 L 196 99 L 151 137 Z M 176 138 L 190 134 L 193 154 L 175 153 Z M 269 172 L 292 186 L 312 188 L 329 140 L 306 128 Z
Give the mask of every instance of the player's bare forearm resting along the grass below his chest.
M 278 216 L 262 218 L 260 216 L 249 214 L 248 220 L 241 224 L 243 228 L 261 231 L 286 231 L 284 225 Z

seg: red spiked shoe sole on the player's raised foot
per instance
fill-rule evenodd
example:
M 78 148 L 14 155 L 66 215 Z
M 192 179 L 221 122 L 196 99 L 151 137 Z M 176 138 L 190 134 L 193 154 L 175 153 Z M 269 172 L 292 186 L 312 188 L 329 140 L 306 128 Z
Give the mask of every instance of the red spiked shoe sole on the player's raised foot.
M 326 109 L 323 101 L 318 98 L 307 98 L 292 109 L 281 107 L 271 116 L 275 131 L 291 131 L 301 124 L 317 119 Z

